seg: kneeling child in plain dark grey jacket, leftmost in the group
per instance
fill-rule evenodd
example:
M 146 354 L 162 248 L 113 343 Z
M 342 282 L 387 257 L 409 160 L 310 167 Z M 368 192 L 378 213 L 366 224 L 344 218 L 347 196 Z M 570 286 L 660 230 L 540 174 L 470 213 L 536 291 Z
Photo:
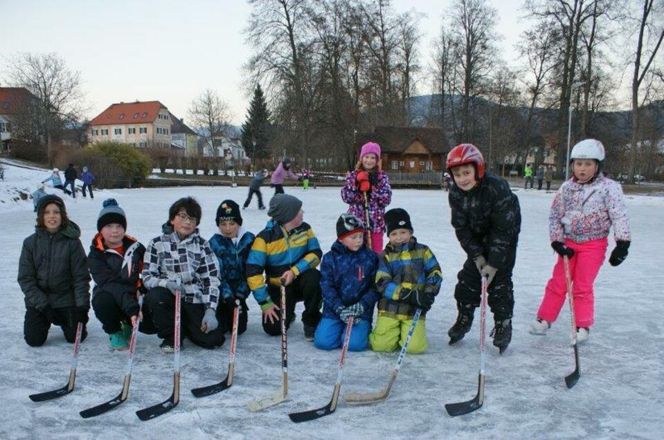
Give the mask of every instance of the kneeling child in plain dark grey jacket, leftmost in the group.
M 18 282 L 26 295 L 24 338 L 30 347 L 44 345 L 51 324 L 67 342 L 87 337 L 90 275 L 80 228 L 67 217 L 64 201 L 48 194 L 37 205 L 37 228 L 26 238 L 19 259 Z

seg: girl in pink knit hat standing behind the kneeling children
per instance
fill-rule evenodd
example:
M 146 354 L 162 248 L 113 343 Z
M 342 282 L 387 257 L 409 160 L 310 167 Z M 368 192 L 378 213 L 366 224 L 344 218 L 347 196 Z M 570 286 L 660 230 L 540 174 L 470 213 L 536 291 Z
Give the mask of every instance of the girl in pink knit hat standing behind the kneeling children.
M 371 248 L 380 254 L 385 232 L 383 216 L 386 206 L 392 201 L 388 176 L 381 169 L 380 145 L 373 142 L 362 145 L 355 170 L 346 176 L 346 185 L 341 189 L 341 199 L 350 205 L 348 212 L 359 217 L 364 223 L 368 222 Z

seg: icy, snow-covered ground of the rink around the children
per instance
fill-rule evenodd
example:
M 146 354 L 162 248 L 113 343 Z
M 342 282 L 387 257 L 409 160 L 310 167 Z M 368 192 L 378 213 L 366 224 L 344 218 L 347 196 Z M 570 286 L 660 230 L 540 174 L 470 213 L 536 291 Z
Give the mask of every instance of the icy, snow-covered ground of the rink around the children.
M 32 174 L 30 174 L 32 173 Z M 43 171 L 8 167 L 6 178 L 36 188 Z M 42 177 L 43 176 L 43 177 Z M 30 182 L 32 178 L 32 182 Z M 8 181 L 0 183 L 2 188 Z M 12 183 L 13 185 L 13 183 Z M 344 211 L 339 188 L 304 192 L 287 188 L 303 199 L 305 221 L 312 224 L 327 251 L 335 239 L 334 224 Z M 487 339 L 487 381 L 484 406 L 472 414 L 452 418 L 444 404 L 465 401 L 476 393 L 478 313 L 466 338 L 447 345 L 447 329 L 456 318 L 454 283 L 463 252 L 449 225 L 447 194 L 442 191 L 396 190 L 392 207 L 411 213 L 415 236 L 431 249 L 445 277 L 436 304 L 427 316 L 429 351 L 406 356 L 388 401 L 351 407 L 340 400 L 337 412 L 317 421 L 294 424 L 289 412 L 321 407 L 330 401 L 337 376 L 339 351 L 314 349 L 303 338 L 297 322 L 289 331 L 289 398 L 286 403 L 251 413 L 246 403 L 280 387 L 280 338 L 265 335 L 260 309 L 250 298 L 249 328 L 237 342 L 233 387 L 206 398 L 194 398 L 189 389 L 221 381 L 228 366 L 228 343 L 207 351 L 186 341 L 181 353 L 179 406 L 148 422 L 134 412 L 168 398 L 172 389 L 172 356 L 161 354 L 156 336 L 141 334 L 129 399 L 116 410 L 83 420 L 80 410 L 116 396 L 120 391 L 126 352 L 111 353 L 107 336 L 91 311 L 88 339 L 82 344 L 76 389 L 56 401 L 33 403 L 28 394 L 62 387 L 69 375 L 71 345 L 57 327 L 46 345 L 30 348 L 23 340 L 23 294 L 16 282 L 21 243 L 35 223 L 32 203 L 0 203 L 6 233 L 0 236 L 0 285 L 4 313 L 0 393 L 0 437 L 5 438 L 661 438 L 664 429 L 664 324 L 661 270 L 664 199 L 631 196 L 627 200 L 634 243 L 618 268 L 602 267 L 596 287 L 596 323 L 591 338 L 581 346 L 582 377 L 567 389 L 564 376 L 573 370 L 566 307 L 548 336 L 528 333 L 541 300 L 555 255 L 548 245 L 548 209 L 553 194 L 517 190 L 523 226 L 514 269 L 516 306 L 514 337 L 500 356 Z M 4 194 L 0 191 L 0 194 Z M 115 197 L 127 212 L 128 232 L 143 243 L 157 235 L 167 219 L 169 205 L 192 194 L 203 207 L 200 226 L 204 237 L 215 232 L 217 205 L 226 198 L 242 203 L 246 187 L 186 187 L 103 190 L 95 199 L 72 203 L 70 217 L 82 229 L 87 249 L 96 232 L 102 201 Z M 272 190 L 264 188 L 266 203 Z M 6 196 L 0 196 L 6 199 Z M 8 209 L 11 206 L 12 209 Z M 242 212 L 244 226 L 258 232 L 267 221 L 256 201 Z M 658 232 L 659 231 L 659 232 Z M 611 246 L 612 247 L 612 246 Z M 298 306 L 301 311 L 301 304 Z M 490 314 L 487 325 L 492 326 Z M 397 353 L 350 353 L 343 392 L 377 391 L 384 386 Z M 211 368 L 210 368 L 211 365 Z M 659 432 L 659 434 L 658 434 Z

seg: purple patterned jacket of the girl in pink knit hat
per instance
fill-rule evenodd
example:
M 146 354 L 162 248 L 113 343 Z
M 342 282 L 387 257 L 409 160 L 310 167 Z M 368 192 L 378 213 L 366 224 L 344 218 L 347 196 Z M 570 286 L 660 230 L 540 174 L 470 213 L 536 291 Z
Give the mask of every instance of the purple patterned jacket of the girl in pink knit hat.
M 354 214 L 366 223 L 364 209 L 364 193 L 357 186 L 357 173 L 359 170 L 348 173 L 346 184 L 341 188 L 341 199 L 348 203 L 348 212 Z M 385 208 L 392 201 L 392 188 L 387 174 L 384 171 L 369 173 L 371 190 L 368 192 L 371 232 L 385 232 Z

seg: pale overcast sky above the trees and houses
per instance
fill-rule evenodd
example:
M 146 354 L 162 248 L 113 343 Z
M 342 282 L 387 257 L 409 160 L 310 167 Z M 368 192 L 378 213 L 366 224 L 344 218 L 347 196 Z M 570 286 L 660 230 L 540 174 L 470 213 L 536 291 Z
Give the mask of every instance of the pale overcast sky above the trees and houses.
M 423 14 L 423 63 L 450 3 L 393 1 L 399 12 Z M 512 65 L 514 44 L 528 28 L 522 3 L 492 1 L 503 35 L 499 46 Z M 241 67 L 250 54 L 242 33 L 250 11 L 241 0 L 0 0 L 0 78 L 12 53 L 56 52 L 82 74 L 89 118 L 113 102 L 159 100 L 186 121 L 191 100 L 209 88 L 231 105 L 240 124 L 248 105 Z M 429 85 L 422 82 L 418 92 L 429 93 Z

